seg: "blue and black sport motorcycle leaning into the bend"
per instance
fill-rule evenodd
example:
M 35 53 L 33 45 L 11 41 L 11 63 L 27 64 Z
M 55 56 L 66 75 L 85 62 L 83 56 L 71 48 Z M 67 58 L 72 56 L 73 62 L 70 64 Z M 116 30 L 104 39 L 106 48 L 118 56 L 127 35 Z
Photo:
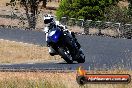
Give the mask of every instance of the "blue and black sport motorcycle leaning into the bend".
M 78 63 L 85 62 L 83 51 L 77 46 L 75 39 L 68 36 L 67 31 L 63 31 L 59 27 L 53 27 L 48 33 L 50 46 L 68 64 L 72 64 L 73 61 L 77 61 Z

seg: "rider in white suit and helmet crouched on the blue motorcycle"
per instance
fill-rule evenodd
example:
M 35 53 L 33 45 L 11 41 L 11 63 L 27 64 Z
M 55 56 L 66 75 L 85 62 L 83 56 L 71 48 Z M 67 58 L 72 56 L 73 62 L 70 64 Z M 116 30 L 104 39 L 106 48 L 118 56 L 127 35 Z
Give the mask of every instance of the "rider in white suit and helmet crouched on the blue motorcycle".
M 70 36 L 71 38 L 74 38 L 76 43 L 77 43 L 77 46 L 79 47 L 80 49 L 80 44 L 77 42 L 77 39 L 75 38 L 75 34 L 73 32 L 70 32 L 68 31 L 67 27 L 60 24 L 59 21 L 56 21 L 55 18 L 50 15 L 50 14 L 47 14 L 44 16 L 44 24 L 45 24 L 45 28 L 44 28 L 44 32 L 46 33 L 46 42 L 47 42 L 47 46 L 49 47 L 49 54 L 51 56 L 54 56 L 56 55 L 56 52 L 55 50 L 49 45 L 49 42 L 48 42 L 48 32 L 51 28 L 53 27 L 59 27 L 60 29 L 62 29 L 63 31 L 66 31 L 68 33 L 68 36 Z

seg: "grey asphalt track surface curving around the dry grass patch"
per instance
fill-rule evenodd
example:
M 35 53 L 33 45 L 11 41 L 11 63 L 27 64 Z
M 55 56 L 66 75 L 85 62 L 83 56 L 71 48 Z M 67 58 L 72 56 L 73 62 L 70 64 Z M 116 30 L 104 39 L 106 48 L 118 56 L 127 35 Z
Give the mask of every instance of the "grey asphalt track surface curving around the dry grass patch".
M 45 45 L 43 32 L 16 29 L 0 29 L 0 39 Z M 128 69 L 132 70 L 132 40 L 116 39 L 101 36 L 77 35 L 86 56 L 83 64 L 66 64 L 65 62 L 0 65 L 0 69 L 39 69 L 39 70 L 76 70 L 83 66 L 88 70 L 95 69 Z

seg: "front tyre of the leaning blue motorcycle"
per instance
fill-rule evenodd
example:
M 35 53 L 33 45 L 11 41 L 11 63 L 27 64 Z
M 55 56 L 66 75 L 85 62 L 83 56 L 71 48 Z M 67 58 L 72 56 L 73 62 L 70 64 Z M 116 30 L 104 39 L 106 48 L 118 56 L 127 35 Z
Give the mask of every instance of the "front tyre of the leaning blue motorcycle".
M 68 63 L 68 64 L 72 64 L 73 60 L 70 54 L 68 54 L 62 47 L 60 47 L 58 49 L 59 54 L 61 55 L 61 57 Z

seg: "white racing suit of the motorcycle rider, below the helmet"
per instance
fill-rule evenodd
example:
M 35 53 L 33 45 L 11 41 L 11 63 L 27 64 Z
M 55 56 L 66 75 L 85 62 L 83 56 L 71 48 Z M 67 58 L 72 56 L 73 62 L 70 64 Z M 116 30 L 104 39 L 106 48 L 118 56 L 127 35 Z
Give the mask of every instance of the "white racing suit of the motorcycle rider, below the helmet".
M 63 26 L 62 24 L 60 24 L 59 21 L 55 21 L 55 25 L 58 26 L 59 28 L 63 29 L 63 31 L 67 31 L 68 34 L 69 34 L 68 36 L 70 36 L 71 38 L 75 38 L 75 35 L 73 34 L 73 32 L 68 31 L 67 27 L 66 26 Z M 48 32 L 49 32 L 49 30 L 50 30 L 49 26 L 44 28 L 44 32 L 46 33 L 46 42 L 48 41 Z M 52 46 L 49 46 L 48 45 L 48 42 L 47 42 L 47 46 L 49 47 L 49 54 L 51 56 L 56 55 L 55 50 L 52 48 Z

